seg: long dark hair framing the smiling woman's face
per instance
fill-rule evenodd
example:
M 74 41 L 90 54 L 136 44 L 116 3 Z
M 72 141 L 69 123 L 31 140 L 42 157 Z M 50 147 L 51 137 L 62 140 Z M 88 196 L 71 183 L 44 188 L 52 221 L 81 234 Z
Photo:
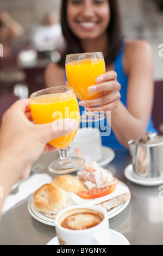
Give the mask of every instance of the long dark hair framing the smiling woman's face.
M 58 63 L 61 66 L 65 66 L 66 54 L 83 52 L 82 46 L 80 45 L 80 40 L 71 32 L 67 24 L 67 1 L 68 0 L 62 0 L 61 4 L 61 27 L 62 34 L 66 40 L 66 50 L 64 54 L 62 54 L 61 60 Z M 118 3 L 117 0 L 108 1 L 110 5 L 110 23 L 107 29 L 109 35 L 109 53 L 108 56 L 105 56 L 106 65 L 114 62 L 122 44 L 121 17 Z

